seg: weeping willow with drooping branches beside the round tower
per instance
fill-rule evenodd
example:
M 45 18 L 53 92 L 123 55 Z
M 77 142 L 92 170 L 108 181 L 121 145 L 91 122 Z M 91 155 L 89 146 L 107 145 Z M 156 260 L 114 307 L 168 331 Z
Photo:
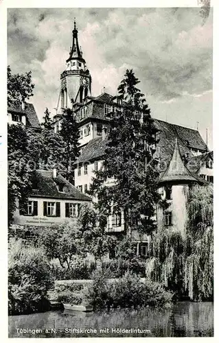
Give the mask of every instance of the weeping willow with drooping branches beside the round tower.
M 146 274 L 176 296 L 213 298 L 213 187 L 189 189 L 186 235 L 163 228 L 152 237 Z

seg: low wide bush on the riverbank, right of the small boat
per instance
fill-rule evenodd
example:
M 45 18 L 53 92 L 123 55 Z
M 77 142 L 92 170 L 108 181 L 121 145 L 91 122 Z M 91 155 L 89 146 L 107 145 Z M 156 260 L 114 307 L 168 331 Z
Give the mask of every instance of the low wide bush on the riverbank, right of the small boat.
M 141 281 L 139 276 L 126 272 L 122 278 L 107 281 L 106 274 L 96 271 L 93 284 L 84 290 L 84 299 L 94 309 L 105 307 L 168 306 L 172 293 L 162 285 L 150 280 Z

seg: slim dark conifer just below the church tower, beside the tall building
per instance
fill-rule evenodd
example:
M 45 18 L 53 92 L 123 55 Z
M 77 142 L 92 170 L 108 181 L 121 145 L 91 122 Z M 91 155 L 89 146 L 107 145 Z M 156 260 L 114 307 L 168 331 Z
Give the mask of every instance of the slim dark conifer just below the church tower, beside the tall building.
M 76 158 L 80 154 L 78 143 L 80 134 L 75 116 L 70 108 L 67 108 L 63 115 L 60 135 L 65 142 L 64 152 L 62 155 L 63 165 L 65 166 L 65 178 L 67 178 L 67 180 L 71 180 L 71 165 L 76 161 Z

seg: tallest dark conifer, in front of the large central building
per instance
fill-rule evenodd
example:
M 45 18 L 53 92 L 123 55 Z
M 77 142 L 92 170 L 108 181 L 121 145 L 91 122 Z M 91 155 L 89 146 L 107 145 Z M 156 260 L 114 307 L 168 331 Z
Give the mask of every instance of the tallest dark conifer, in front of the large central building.
M 158 173 L 152 168 L 157 129 L 138 83 L 127 70 L 118 87 L 123 106 L 110 122 L 104 163 L 91 185 L 100 213 L 108 215 L 112 205 L 115 212 L 124 211 L 128 235 L 131 228 L 147 233 L 154 229 L 151 217 L 158 200 Z M 115 180 L 111 187 L 106 185 L 108 178 Z

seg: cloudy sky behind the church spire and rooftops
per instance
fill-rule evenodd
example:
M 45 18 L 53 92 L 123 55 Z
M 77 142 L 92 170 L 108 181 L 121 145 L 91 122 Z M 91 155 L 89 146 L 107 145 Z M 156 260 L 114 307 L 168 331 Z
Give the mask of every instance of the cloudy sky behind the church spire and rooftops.
M 41 120 L 55 114 L 76 17 L 92 95 L 117 92 L 126 69 L 141 81 L 154 118 L 198 130 L 212 149 L 212 10 L 200 8 L 10 8 L 8 64 L 32 71 Z

